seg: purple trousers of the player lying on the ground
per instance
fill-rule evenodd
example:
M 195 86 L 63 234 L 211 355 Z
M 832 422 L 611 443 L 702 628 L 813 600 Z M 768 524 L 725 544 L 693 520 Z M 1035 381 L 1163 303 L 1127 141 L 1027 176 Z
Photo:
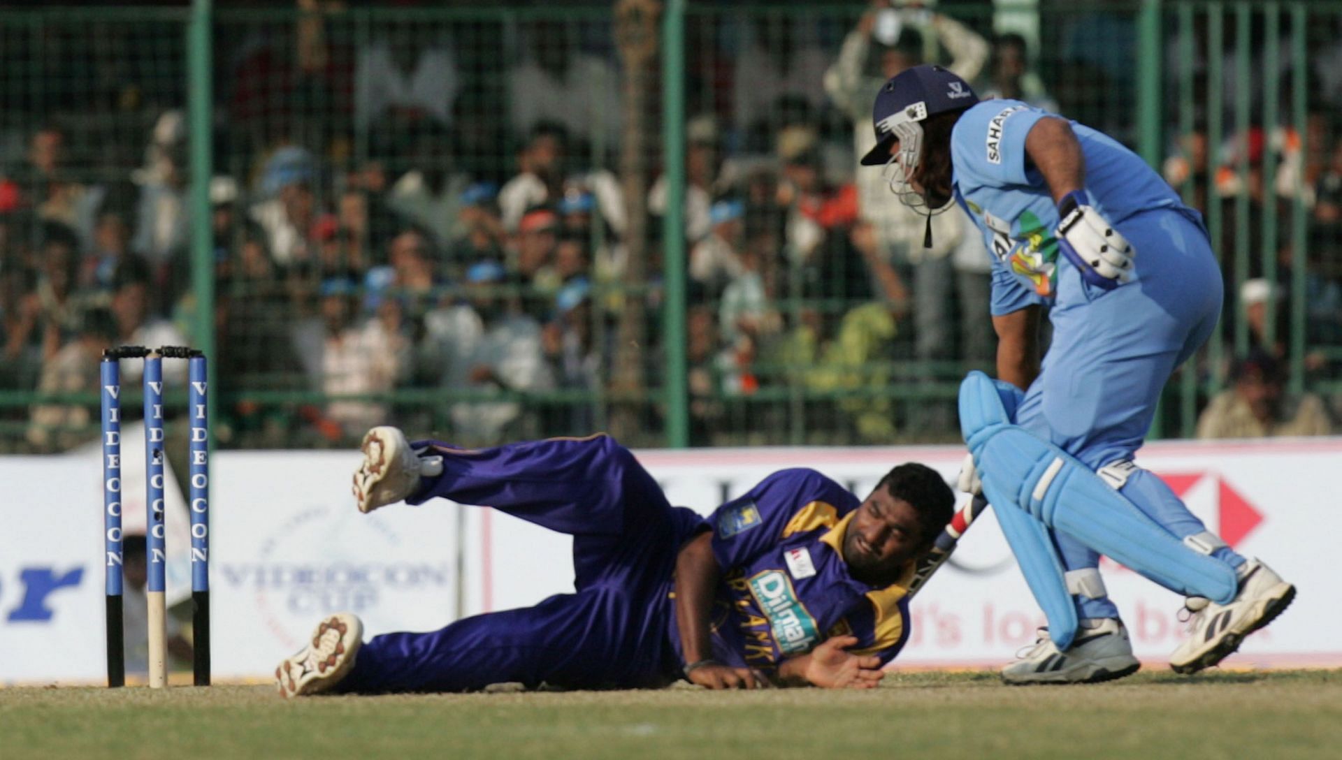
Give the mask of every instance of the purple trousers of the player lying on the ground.
M 671 507 L 628 449 L 609 436 L 476 450 L 421 445 L 443 454 L 443 474 L 407 503 L 442 496 L 572 535 L 577 591 L 432 633 L 373 637 L 338 692 L 467 692 L 502 682 L 660 688 L 680 677 L 667 637 L 671 579 L 680 546 L 707 524 Z

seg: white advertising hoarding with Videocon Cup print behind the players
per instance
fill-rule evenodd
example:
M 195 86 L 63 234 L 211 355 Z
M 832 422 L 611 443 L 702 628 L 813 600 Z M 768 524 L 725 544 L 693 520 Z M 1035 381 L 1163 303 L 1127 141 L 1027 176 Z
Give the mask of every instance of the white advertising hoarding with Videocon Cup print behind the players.
M 127 442 L 127 458 L 133 450 Z M 953 479 L 962 456 L 954 446 L 639 452 L 672 504 L 705 513 L 781 468 L 812 466 L 866 496 L 898 462 L 923 461 Z M 358 613 L 369 634 L 432 630 L 460 613 L 572 590 L 569 539 L 514 517 L 447 501 L 358 513 L 349 495 L 357 462 L 353 452 L 213 457 L 217 678 L 266 677 L 327 611 Z M 1342 625 L 1342 580 L 1327 566 L 1342 512 L 1319 483 L 1342 462 L 1342 438 L 1153 444 L 1139 462 L 1236 550 L 1267 559 L 1300 588 L 1291 610 L 1228 665 L 1342 665 L 1342 641 L 1329 633 Z M 140 472 L 130 461 L 125 468 Z M 98 452 L 0 457 L 0 477 L 11 516 L 0 532 L 0 684 L 97 682 L 105 674 Z M 133 488 L 141 479 L 126 480 Z M 173 536 L 185 533 L 185 509 L 180 492 L 168 491 L 169 551 L 184 558 L 184 540 Z M 990 512 L 953 563 L 914 603 L 898 665 L 1000 663 L 1033 641 L 1043 618 Z M 1180 599 L 1125 568 L 1104 570 L 1138 655 L 1162 661 L 1182 629 Z M 188 587 L 184 563 L 173 575 L 178 590 Z

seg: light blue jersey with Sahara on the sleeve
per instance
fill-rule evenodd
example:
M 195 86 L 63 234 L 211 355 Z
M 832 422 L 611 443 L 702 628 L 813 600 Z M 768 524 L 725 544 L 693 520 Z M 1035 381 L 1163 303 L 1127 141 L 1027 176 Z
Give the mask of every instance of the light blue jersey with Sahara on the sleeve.
M 1049 303 L 1057 291 L 1057 206 L 1025 155 L 1025 135 L 1053 115 L 1020 101 L 982 101 L 950 137 L 956 200 L 969 212 L 993 257 L 993 315 Z M 1135 153 L 1108 135 L 1070 122 L 1086 158 L 1086 193 L 1110 223 L 1176 208 L 1198 220 Z M 1070 264 L 1067 264 L 1070 267 Z

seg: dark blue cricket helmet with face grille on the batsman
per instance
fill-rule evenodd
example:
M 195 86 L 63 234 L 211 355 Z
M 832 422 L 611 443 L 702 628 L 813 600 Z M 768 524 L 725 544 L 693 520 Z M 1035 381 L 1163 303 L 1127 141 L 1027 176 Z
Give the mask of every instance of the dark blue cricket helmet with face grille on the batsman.
M 876 92 L 871 111 L 876 146 L 862 157 L 863 166 L 882 166 L 890 161 L 890 145 L 898 139 L 896 122 L 921 122 L 930 115 L 968 109 L 978 95 L 958 75 L 943 66 L 925 63 L 906 68 L 890 78 Z

